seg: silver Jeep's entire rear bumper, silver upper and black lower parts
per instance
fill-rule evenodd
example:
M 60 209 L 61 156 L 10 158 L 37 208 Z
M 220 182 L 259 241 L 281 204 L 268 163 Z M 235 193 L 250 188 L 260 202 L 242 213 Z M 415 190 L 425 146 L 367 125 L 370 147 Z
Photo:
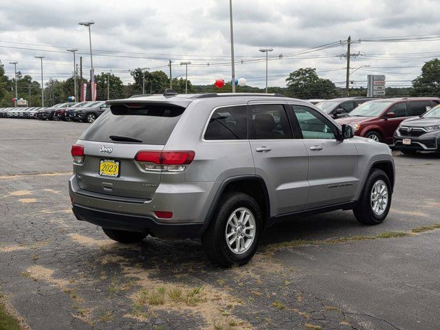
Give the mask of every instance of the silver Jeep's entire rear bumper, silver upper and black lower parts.
M 160 184 L 153 199 L 140 199 L 83 190 L 72 175 L 69 195 L 79 220 L 159 237 L 194 238 L 201 234 L 214 186 L 216 183 Z M 173 212 L 173 217 L 158 218 L 155 210 Z

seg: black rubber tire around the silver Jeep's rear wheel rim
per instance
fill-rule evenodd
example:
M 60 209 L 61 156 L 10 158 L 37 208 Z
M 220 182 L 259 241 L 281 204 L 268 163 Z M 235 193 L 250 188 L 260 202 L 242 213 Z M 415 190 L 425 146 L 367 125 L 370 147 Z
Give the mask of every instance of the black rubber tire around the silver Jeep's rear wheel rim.
M 255 220 L 254 241 L 252 241 L 248 250 L 242 254 L 232 252 L 225 238 L 228 219 L 238 208 L 248 209 Z M 228 192 L 217 206 L 208 229 L 201 237 L 201 242 L 210 259 L 215 263 L 225 267 L 244 265 L 254 256 L 262 230 L 263 214 L 261 214 L 261 210 L 254 199 L 243 192 Z

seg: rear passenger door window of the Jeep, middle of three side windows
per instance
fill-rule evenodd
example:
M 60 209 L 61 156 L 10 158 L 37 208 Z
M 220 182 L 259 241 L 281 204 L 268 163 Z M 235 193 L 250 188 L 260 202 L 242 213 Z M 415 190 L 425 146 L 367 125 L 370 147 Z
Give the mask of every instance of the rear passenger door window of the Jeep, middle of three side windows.
M 292 139 L 292 129 L 283 105 L 254 104 L 252 111 L 251 139 L 276 140 Z

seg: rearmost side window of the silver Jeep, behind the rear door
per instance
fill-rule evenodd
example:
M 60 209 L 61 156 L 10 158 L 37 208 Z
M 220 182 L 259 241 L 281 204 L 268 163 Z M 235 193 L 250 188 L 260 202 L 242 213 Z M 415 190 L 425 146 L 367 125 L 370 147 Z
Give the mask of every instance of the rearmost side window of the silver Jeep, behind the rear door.
M 205 132 L 205 140 L 246 140 L 248 113 L 245 105 L 222 107 L 214 111 Z

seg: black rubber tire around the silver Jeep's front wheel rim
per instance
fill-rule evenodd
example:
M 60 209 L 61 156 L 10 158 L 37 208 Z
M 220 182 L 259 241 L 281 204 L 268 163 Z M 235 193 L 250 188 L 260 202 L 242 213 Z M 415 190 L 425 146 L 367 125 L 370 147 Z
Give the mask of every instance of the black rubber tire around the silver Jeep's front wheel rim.
M 373 212 L 373 208 L 371 206 L 371 192 L 373 190 L 373 186 L 379 180 L 384 181 L 388 189 L 388 203 L 386 204 L 384 212 L 380 215 Z M 353 209 L 356 219 L 358 219 L 360 223 L 364 223 L 364 225 L 378 225 L 379 223 L 382 223 L 390 211 L 391 195 L 391 182 L 386 173 L 379 169 L 372 170 L 368 179 L 366 179 L 364 191 L 362 191 L 360 199 Z

